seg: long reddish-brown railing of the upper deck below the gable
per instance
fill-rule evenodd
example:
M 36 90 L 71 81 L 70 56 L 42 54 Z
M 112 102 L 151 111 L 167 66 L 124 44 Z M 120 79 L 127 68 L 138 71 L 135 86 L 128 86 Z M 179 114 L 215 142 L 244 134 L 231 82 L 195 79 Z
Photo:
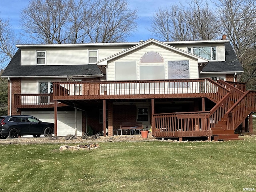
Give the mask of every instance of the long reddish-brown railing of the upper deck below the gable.
M 136 80 L 53 82 L 54 100 L 208 97 L 221 100 L 229 91 L 213 80 Z

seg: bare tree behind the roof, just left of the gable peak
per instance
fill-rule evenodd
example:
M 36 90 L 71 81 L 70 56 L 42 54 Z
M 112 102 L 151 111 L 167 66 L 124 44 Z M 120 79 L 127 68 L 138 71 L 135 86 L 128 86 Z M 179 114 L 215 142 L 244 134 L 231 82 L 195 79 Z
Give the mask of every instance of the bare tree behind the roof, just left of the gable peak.
M 123 42 L 136 31 L 137 10 L 130 10 L 126 0 L 91 1 L 86 19 L 90 42 Z

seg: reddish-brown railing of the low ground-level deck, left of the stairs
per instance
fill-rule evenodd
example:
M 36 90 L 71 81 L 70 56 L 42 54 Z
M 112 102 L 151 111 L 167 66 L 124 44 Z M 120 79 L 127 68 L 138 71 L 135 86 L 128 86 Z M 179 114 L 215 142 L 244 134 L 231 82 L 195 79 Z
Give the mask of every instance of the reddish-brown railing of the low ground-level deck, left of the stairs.
M 210 112 L 153 114 L 155 137 L 212 136 Z

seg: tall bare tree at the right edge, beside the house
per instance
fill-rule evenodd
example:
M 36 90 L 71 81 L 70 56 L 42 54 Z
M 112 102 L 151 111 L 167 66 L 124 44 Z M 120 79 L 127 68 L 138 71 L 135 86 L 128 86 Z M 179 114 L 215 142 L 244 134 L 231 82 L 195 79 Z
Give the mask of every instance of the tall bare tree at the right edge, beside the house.
M 255 0 L 218 0 L 220 31 L 226 34 L 244 68 L 242 81 L 256 89 L 256 2 Z

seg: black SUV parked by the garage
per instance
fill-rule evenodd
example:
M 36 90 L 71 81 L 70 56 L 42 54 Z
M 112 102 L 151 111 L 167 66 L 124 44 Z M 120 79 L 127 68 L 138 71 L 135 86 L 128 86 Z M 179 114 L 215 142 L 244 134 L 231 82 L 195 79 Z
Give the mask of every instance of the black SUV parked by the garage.
M 34 137 L 52 136 L 54 123 L 45 123 L 30 115 L 12 115 L 0 117 L 0 138 L 18 138 L 20 135 Z

